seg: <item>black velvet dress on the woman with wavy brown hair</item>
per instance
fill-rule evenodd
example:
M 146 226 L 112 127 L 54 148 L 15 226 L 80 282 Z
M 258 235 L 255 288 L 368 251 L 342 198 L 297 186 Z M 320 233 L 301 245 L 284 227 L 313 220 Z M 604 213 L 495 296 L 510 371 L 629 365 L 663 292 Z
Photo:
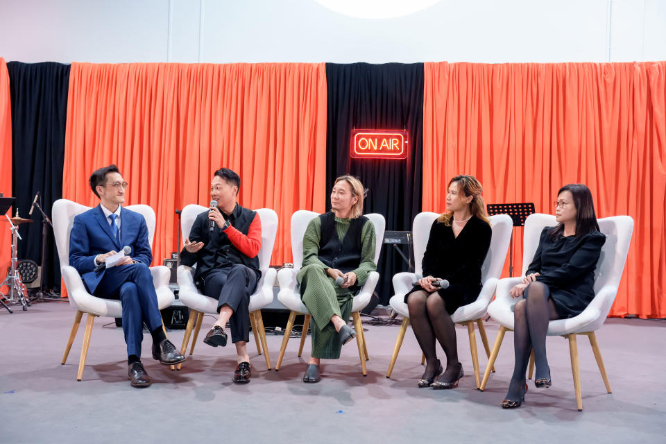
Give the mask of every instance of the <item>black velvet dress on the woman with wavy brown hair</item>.
M 423 255 L 423 275 L 449 281 L 449 287 L 438 290 L 445 302 L 448 314 L 453 314 L 463 305 L 474 302 L 481 292 L 481 266 L 490 248 L 493 230 L 476 216 L 466 223 L 458 237 L 453 228 L 434 221 L 430 228 L 428 244 Z M 413 287 L 404 295 L 404 302 L 414 291 Z

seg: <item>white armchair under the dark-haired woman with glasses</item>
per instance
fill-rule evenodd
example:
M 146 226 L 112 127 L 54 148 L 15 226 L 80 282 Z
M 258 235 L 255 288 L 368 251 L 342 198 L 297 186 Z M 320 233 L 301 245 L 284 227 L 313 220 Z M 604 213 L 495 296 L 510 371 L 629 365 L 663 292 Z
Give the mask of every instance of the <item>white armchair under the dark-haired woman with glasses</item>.
M 606 234 L 606 243 L 601 248 L 601 256 L 597 262 L 595 270 L 595 298 L 590 305 L 578 316 L 568 319 L 556 319 L 548 323 L 547 336 L 563 336 L 569 340 L 569 350 L 571 358 L 571 369 L 574 378 L 574 390 L 576 392 L 576 402 L 578 410 L 583 409 L 583 397 L 581 393 L 580 370 L 578 363 L 578 347 L 576 341 L 577 334 L 588 336 L 592 352 L 597 359 L 599 372 L 604 379 L 606 391 L 610 393 L 610 384 L 604 361 L 601 359 L 601 351 L 597 343 L 595 331 L 606 321 L 606 317 L 613 305 L 617 287 L 620 285 L 626 255 L 629 253 L 629 244 L 631 243 L 631 234 L 633 232 L 633 219 L 629 216 L 613 216 L 599 219 L 599 229 Z M 525 220 L 523 253 L 522 253 L 522 275 L 527 272 L 534 253 L 539 244 L 540 233 L 544 227 L 556 225 L 555 216 L 550 214 L 531 214 Z M 504 333 L 507 330 L 513 330 L 513 309 L 514 305 L 520 299 L 511 298 L 511 288 L 515 284 L 520 284 L 522 278 L 506 278 L 497 283 L 497 297 L 488 306 L 488 314 L 500 324 L 495 345 L 488 358 L 488 367 L 481 381 L 480 390 L 484 390 L 490 368 L 495 363 L 499 347 L 502 345 Z M 533 360 L 530 359 L 529 378 L 531 378 Z

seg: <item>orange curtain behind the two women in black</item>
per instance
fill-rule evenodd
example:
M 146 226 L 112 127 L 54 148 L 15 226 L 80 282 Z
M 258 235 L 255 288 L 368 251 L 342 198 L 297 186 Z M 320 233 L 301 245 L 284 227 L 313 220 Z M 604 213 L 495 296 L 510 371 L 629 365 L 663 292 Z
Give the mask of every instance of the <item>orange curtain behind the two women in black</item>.
M 584 183 L 598 217 L 635 222 L 610 315 L 666 317 L 665 84 L 666 62 L 426 63 L 423 210 L 443 211 L 458 173 L 486 203 L 551 214 L 559 187 Z M 518 274 L 522 229 L 514 239 Z

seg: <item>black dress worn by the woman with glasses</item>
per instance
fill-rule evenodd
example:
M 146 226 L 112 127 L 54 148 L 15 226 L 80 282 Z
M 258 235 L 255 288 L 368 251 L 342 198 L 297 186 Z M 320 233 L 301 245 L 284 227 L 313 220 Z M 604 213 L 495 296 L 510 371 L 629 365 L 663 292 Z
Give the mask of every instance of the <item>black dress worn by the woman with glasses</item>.
M 536 280 L 546 284 L 560 318 L 581 314 L 595 297 L 595 268 L 606 236 L 591 231 L 582 236 L 552 238 L 546 227 L 527 274 L 539 273 Z

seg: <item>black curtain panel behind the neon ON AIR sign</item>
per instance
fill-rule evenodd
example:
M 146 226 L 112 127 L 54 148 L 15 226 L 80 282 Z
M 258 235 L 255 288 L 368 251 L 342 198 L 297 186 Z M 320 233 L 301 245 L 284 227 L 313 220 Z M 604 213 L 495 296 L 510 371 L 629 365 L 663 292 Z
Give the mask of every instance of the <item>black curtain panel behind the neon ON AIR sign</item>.
M 386 218 L 386 230 L 411 230 L 421 210 L 423 148 L 423 64 L 326 64 L 328 116 L 326 140 L 327 191 L 336 177 L 349 173 L 368 188 L 365 213 Z M 350 135 L 357 129 L 406 129 L 406 160 L 350 158 Z M 327 207 L 330 202 L 327 201 Z M 381 242 L 382 239 L 377 239 Z M 393 250 L 382 247 L 377 295 L 386 305 L 393 296 L 391 278 L 407 271 L 407 263 Z M 402 246 L 404 254 L 408 248 Z

